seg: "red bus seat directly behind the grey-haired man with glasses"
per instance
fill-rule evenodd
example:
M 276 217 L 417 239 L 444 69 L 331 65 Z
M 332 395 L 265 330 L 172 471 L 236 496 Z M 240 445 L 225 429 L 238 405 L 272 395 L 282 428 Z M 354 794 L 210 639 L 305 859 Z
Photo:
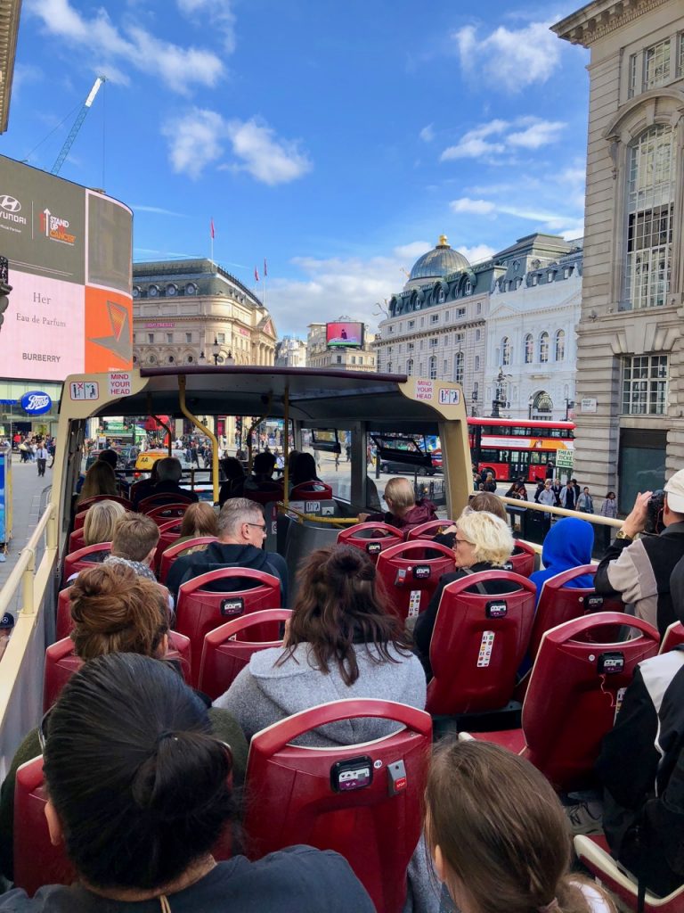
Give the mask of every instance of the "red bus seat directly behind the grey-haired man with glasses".
M 218 581 L 254 582 L 252 588 L 216 592 L 203 589 L 208 583 Z M 204 637 L 220 624 L 238 615 L 259 612 L 261 609 L 278 609 L 281 603 L 280 580 L 270 573 L 250 568 L 222 568 L 193 577 L 181 583 L 176 605 L 176 630 L 190 637 L 192 643 L 192 684 L 197 687 L 202 663 Z M 268 626 L 263 639 L 275 639 L 277 625 Z

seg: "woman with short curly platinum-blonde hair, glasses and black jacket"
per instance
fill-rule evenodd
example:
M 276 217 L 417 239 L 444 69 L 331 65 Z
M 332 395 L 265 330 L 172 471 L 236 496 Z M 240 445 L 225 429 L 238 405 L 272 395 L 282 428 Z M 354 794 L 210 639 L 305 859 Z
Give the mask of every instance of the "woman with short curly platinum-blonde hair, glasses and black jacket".
M 511 557 L 513 544 L 513 534 L 500 517 L 495 517 L 485 510 L 464 510 L 459 517 L 453 536 L 456 571 L 440 577 L 427 609 L 420 613 L 413 630 L 416 652 L 429 678 L 432 676 L 430 640 L 444 587 L 461 580 L 466 574 L 500 568 Z M 514 583 L 508 581 L 487 582 L 482 586 L 487 593 L 492 594 L 512 593 L 517 589 Z

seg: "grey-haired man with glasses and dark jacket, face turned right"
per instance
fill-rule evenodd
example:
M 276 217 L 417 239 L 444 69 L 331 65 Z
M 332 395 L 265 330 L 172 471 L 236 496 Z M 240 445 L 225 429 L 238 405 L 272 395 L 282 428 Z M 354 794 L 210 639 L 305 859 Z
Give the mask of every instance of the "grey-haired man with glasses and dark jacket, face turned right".
M 255 501 L 249 498 L 229 498 L 219 514 L 219 538 L 210 542 L 204 551 L 193 551 L 191 555 L 177 558 L 171 564 L 166 585 L 175 598 L 181 583 L 192 580 L 202 573 L 219 571 L 223 568 L 249 568 L 264 571 L 280 579 L 282 604 L 287 604 L 287 565 L 285 559 L 275 551 L 264 551 L 266 524 L 264 513 Z M 231 581 L 217 581 L 209 589 L 221 592 L 249 589 L 239 577 Z

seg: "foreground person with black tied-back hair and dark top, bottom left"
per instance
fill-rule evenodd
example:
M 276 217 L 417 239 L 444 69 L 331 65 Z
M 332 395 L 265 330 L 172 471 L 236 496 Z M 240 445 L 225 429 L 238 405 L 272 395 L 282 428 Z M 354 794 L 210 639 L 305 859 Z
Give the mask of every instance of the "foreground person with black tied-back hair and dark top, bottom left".
M 255 863 L 213 848 L 234 822 L 230 749 L 202 700 L 148 656 L 100 656 L 44 719 L 47 826 L 78 882 L 0 897 L 0 910 L 328 913 L 373 906 L 335 853 L 291 847 Z

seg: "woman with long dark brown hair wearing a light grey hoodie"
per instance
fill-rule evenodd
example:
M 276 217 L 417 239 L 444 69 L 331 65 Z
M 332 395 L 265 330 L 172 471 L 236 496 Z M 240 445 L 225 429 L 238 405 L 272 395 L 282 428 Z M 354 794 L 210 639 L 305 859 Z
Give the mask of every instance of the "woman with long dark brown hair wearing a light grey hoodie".
M 279 719 L 343 698 L 384 698 L 423 709 L 425 676 L 403 625 L 388 611 L 368 555 L 336 545 L 312 552 L 299 571 L 285 651 L 255 653 L 214 707 L 229 709 L 249 740 Z M 353 745 L 396 728 L 359 718 L 316 729 L 301 743 Z

